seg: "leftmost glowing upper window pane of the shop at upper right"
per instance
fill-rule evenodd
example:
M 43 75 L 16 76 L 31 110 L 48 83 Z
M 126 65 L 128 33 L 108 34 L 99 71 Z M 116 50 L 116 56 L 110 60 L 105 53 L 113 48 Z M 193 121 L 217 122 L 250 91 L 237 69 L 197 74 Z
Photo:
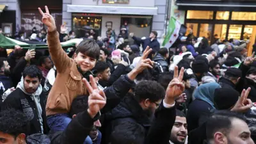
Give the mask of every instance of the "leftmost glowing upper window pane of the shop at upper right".
M 187 19 L 213 19 L 213 11 L 188 10 Z

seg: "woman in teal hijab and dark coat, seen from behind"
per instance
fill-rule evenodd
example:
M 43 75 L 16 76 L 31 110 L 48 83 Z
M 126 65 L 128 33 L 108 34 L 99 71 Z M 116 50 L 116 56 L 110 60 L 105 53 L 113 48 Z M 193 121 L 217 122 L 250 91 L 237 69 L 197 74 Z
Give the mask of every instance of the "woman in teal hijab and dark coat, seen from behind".
M 198 86 L 195 90 L 195 100 L 189 105 L 186 116 L 188 132 L 204 124 L 208 116 L 216 109 L 214 106 L 214 91 L 220 87 L 218 83 L 206 83 Z

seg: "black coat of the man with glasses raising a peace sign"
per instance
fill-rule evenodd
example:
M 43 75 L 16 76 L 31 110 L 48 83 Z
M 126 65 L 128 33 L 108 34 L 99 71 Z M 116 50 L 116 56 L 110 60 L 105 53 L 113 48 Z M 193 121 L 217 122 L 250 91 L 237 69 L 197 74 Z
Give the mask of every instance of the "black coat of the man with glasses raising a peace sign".
M 111 132 L 117 125 L 123 122 L 136 122 L 144 127 L 146 132 L 145 143 L 158 144 L 168 143 L 170 129 L 175 122 L 175 108 L 164 108 L 163 102 L 155 112 L 155 119 L 152 122 L 141 108 L 140 104 L 129 95 L 125 97 L 116 108 L 106 113 L 102 131 L 102 143 L 108 143 Z

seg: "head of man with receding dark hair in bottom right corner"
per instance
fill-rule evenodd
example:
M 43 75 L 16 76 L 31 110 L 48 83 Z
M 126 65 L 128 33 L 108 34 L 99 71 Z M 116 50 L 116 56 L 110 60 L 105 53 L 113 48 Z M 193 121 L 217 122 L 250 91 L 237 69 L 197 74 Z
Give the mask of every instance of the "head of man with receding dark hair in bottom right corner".
M 207 120 L 206 136 L 209 144 L 254 144 L 243 116 L 226 111 Z

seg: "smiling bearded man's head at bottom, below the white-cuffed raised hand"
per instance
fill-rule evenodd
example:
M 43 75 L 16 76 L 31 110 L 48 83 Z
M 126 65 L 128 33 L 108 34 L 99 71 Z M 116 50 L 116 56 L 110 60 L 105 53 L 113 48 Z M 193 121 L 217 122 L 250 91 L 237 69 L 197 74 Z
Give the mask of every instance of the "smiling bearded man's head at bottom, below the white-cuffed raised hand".
M 182 111 L 176 109 L 176 119 L 172 127 L 170 144 L 184 144 L 188 136 L 187 120 Z

